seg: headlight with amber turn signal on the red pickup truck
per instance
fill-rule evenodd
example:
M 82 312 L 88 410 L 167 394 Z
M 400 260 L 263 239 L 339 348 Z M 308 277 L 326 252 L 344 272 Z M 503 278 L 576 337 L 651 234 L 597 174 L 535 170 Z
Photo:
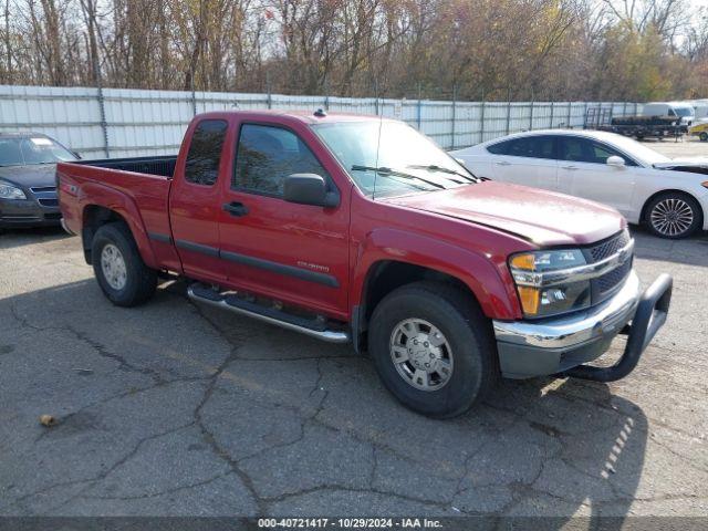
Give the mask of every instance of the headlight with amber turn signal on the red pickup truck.
M 513 254 L 509 268 L 524 315 L 542 317 L 590 306 L 590 280 L 573 279 L 573 268 L 585 264 L 577 249 Z

